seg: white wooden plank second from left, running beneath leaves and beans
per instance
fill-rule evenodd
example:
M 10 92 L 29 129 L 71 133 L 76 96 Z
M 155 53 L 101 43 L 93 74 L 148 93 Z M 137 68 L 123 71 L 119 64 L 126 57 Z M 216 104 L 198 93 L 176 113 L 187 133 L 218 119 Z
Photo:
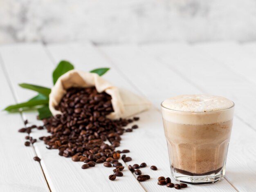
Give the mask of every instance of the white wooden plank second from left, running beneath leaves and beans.
M 18 88 L 17 84 L 26 82 L 36 85 L 52 86 L 54 64 L 40 44 L 10 45 L 0 48 L 11 84 L 20 101 L 27 100 L 34 94 Z M 15 57 L 13 57 L 15 55 Z M 22 71 L 22 72 L 20 72 Z M 23 113 L 30 123 L 37 125 L 36 112 Z M 46 131 L 34 131 L 31 136 L 38 138 L 47 135 Z M 74 163 L 70 158 L 58 156 L 57 150 L 47 150 L 43 141 L 35 143 L 35 149 L 41 158 L 41 165 L 52 191 L 84 192 L 84 191 L 144 191 L 129 171 L 124 176 L 111 182 L 108 175 L 112 168 L 96 165 L 87 170 L 81 169 L 83 163 Z M 100 181 L 100 182 L 99 182 Z M 118 182 L 117 182 L 118 181 Z

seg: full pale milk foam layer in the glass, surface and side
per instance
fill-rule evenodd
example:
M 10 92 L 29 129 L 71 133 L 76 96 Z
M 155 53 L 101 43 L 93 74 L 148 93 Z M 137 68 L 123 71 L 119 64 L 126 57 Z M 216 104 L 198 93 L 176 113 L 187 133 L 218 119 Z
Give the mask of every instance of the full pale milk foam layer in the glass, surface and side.
M 164 100 L 162 116 L 166 121 L 186 125 L 222 123 L 233 119 L 233 105 L 220 96 L 180 95 Z

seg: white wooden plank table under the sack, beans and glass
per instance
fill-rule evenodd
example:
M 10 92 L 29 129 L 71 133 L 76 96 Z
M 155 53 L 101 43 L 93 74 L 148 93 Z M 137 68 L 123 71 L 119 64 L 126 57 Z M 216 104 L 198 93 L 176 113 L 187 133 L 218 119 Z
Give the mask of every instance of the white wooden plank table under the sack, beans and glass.
M 213 184 L 189 186 L 188 192 L 256 191 L 256 43 L 185 43 L 157 45 L 104 45 L 87 42 L 57 45 L 18 44 L 0 46 L 0 107 L 25 101 L 35 95 L 18 83 L 52 86 L 52 71 L 60 60 L 69 60 L 76 69 L 89 71 L 110 67 L 104 78 L 119 87 L 145 96 L 153 108 L 139 114 L 139 129 L 122 136 L 121 146 L 129 149 L 129 164 L 146 162 L 157 171 L 141 169 L 151 179 L 137 182 L 126 169 L 124 176 L 108 180 L 111 168 L 83 170 L 81 162 L 47 150 L 43 141 L 25 147 L 25 134 L 18 133 L 23 121 L 42 124 L 36 112 L 0 112 L 1 192 L 108 192 L 176 191 L 157 185 L 159 176 L 171 176 L 162 127 L 160 103 L 179 94 L 215 94 L 236 103 L 236 113 L 227 158 L 225 179 Z M 33 131 L 38 138 L 45 130 Z M 41 158 L 41 163 L 33 160 Z

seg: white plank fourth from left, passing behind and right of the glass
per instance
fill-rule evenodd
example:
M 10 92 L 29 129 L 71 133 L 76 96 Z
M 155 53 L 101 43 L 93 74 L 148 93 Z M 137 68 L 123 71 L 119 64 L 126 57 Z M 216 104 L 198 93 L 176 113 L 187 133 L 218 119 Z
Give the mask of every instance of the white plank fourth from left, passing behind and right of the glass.
M 238 80 L 234 80 L 232 76 L 229 76 L 229 72 L 225 71 L 224 68 L 220 68 L 220 66 L 212 65 L 211 60 L 206 60 L 201 58 L 201 56 L 197 54 L 191 54 L 187 45 L 183 44 L 175 44 L 175 45 L 145 45 L 142 47 L 143 51 L 136 46 L 112 46 L 112 47 L 102 47 L 102 50 L 111 58 L 111 60 L 118 67 L 120 63 L 124 63 L 120 70 L 126 71 L 126 76 L 132 77 L 130 80 L 136 82 L 136 85 L 140 87 L 141 91 L 144 92 L 148 96 L 150 100 L 154 100 L 154 94 L 157 92 L 159 95 L 164 94 L 166 91 L 166 87 L 168 87 L 169 82 L 176 82 L 179 86 L 177 86 L 173 90 L 173 94 L 180 94 L 184 92 L 183 89 L 186 87 L 193 87 L 194 92 L 186 92 L 187 94 L 198 93 L 202 90 L 203 93 L 209 94 L 219 94 L 230 98 L 233 93 L 228 93 L 228 91 L 222 93 L 222 86 L 227 88 L 234 87 L 236 83 L 239 83 Z M 193 51 L 193 50 L 190 50 Z M 148 54 L 149 53 L 149 54 Z M 121 58 L 126 58 L 122 60 Z M 144 59 L 143 59 L 144 58 Z M 155 59 L 157 58 L 157 60 Z M 146 63 L 146 67 L 138 67 L 141 63 Z M 152 63 L 152 64 L 150 64 Z M 144 73 L 144 69 L 148 66 L 153 67 L 153 65 L 157 66 L 154 70 L 146 71 Z M 204 65 L 212 65 L 209 66 L 209 69 Z M 163 67 L 164 66 L 164 67 Z M 154 83 L 154 81 L 158 78 L 156 75 L 157 69 L 161 69 L 163 75 L 165 75 L 164 81 Z M 222 85 L 219 81 L 215 82 L 215 78 L 207 78 L 213 77 L 213 74 L 216 74 L 216 69 L 220 69 L 222 74 L 227 74 L 227 81 Z M 136 70 L 134 70 L 136 69 Z M 167 75 L 172 74 L 172 71 L 175 71 L 176 74 L 179 74 L 180 78 L 177 76 Z M 150 76 L 151 78 L 146 78 L 148 84 L 152 85 L 150 89 L 148 87 L 141 86 L 141 81 L 139 80 L 140 74 L 145 74 L 145 76 Z M 206 74 L 204 74 L 206 73 Z M 213 73 L 213 74 L 212 74 Z M 221 74 L 217 73 L 217 76 L 226 80 L 226 78 L 222 78 Z M 155 78 L 153 78 L 155 77 Z M 184 81 L 180 79 L 184 78 L 186 83 L 184 85 Z M 234 78 L 237 78 L 236 76 Z M 151 80 L 150 80 L 151 79 Z M 205 82 L 209 83 L 209 85 Z M 185 87 L 185 88 L 184 88 Z M 221 88 L 221 89 L 220 89 Z M 220 90 L 219 90 L 220 89 Z M 228 89 L 229 90 L 229 89 Z M 236 102 L 236 100 L 235 100 Z M 156 106 L 159 104 L 156 103 Z M 236 107 L 236 113 L 239 107 Z M 243 129 L 241 129 L 243 127 Z M 248 134 L 247 134 L 248 133 Z M 248 137 L 248 136 L 252 137 Z M 231 184 L 237 189 L 241 191 L 253 191 L 255 185 L 250 185 L 256 178 L 255 177 L 245 177 L 245 175 L 252 176 L 254 174 L 254 170 L 252 170 L 252 165 L 255 165 L 255 161 L 249 161 L 250 159 L 254 159 L 255 151 L 252 152 L 251 149 L 244 148 L 243 143 L 247 141 L 251 145 L 255 145 L 255 131 L 250 129 L 245 123 L 241 122 L 239 118 L 235 117 L 234 119 L 234 127 L 231 135 L 231 143 L 230 150 L 227 159 L 227 174 L 226 178 L 231 182 Z M 239 139 L 238 139 L 239 138 Z M 238 154 L 240 154 L 238 156 Z M 250 162 L 250 166 L 247 166 L 247 161 Z M 244 174 L 235 174 L 234 167 L 236 170 L 243 170 Z M 254 174 L 255 176 L 255 174 Z M 232 182 L 239 181 L 239 182 Z

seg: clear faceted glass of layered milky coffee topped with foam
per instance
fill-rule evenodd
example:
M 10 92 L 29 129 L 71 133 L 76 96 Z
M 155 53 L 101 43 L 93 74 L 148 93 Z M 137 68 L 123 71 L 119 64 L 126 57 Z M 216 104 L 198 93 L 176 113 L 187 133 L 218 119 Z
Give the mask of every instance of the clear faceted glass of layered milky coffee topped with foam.
M 220 96 L 181 95 L 161 106 L 175 180 L 199 185 L 223 179 L 234 103 Z

